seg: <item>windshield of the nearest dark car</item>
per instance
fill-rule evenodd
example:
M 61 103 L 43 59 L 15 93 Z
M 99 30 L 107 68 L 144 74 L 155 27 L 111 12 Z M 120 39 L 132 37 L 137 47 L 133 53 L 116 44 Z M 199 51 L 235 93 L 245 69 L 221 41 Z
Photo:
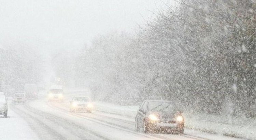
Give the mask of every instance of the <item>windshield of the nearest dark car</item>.
M 175 108 L 171 102 L 152 101 L 147 104 L 149 111 L 173 111 Z

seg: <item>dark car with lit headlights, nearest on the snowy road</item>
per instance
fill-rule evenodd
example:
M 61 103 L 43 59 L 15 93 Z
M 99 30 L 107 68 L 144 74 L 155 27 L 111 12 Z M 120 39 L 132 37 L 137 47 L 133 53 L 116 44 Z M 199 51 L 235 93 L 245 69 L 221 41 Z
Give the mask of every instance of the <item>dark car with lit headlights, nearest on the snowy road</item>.
M 184 117 L 171 101 L 145 100 L 135 118 L 136 131 L 184 133 Z

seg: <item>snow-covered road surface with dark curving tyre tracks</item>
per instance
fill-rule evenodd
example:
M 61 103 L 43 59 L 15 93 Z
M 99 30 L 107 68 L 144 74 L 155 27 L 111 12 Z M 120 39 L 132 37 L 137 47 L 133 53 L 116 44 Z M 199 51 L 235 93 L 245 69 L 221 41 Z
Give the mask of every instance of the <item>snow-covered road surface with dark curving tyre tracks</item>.
M 17 134 L 17 138 L 23 134 L 21 138 L 33 140 L 238 140 L 190 129 L 185 129 L 184 135 L 138 133 L 134 130 L 134 119 L 131 117 L 101 111 L 94 111 L 92 114 L 70 113 L 68 100 L 59 103 L 39 99 L 28 101 L 24 105 L 10 103 L 9 118 L 0 118 L 0 120 L 6 119 L 5 123 L 8 121 L 12 123 L 15 118 L 20 120 L 15 124 L 15 128 L 8 127 L 13 136 Z M 0 136 L 4 137 L 2 132 Z M 15 139 L 15 137 L 4 138 Z

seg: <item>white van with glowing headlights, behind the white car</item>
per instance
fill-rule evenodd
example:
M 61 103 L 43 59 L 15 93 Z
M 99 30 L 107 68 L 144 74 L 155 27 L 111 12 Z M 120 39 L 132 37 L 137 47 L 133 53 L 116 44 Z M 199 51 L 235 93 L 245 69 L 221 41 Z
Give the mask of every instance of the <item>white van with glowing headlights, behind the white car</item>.
M 63 101 L 63 86 L 52 85 L 48 92 L 48 101 Z

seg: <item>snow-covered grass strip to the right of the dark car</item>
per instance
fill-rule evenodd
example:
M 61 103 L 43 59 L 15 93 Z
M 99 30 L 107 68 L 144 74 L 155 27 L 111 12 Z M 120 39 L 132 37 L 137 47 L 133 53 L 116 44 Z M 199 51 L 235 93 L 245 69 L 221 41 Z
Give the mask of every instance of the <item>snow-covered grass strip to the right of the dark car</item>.
M 256 119 L 184 113 L 186 127 L 231 137 L 256 139 Z

